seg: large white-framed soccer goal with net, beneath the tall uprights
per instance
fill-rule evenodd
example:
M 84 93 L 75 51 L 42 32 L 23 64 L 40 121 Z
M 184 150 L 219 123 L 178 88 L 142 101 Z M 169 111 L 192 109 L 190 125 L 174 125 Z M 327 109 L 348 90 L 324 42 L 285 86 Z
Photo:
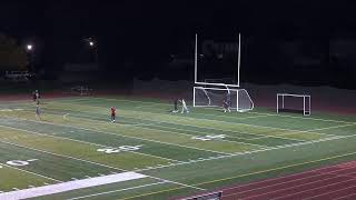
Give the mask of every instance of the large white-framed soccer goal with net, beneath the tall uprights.
M 254 109 L 254 102 L 245 89 L 194 87 L 194 107 L 221 107 L 229 102 L 230 109 L 245 112 Z

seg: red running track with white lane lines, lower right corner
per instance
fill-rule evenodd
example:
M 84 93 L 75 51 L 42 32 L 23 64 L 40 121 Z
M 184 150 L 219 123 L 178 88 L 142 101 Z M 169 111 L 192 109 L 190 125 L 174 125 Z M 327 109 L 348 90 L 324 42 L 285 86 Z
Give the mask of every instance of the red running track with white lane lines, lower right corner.
M 224 189 L 222 200 L 356 199 L 356 161 Z

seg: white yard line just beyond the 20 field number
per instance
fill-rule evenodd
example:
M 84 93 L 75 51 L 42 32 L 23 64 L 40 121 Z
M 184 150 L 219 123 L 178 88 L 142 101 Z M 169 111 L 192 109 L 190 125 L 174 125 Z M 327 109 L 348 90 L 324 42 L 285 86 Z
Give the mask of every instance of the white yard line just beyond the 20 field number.
M 13 118 L 12 119 L 21 119 L 21 118 Z M 23 118 L 22 118 L 23 119 Z M 53 126 L 59 126 L 59 127 L 69 127 L 69 128 L 73 128 L 73 129 L 80 129 L 80 130 L 87 130 L 87 131 L 96 131 L 96 132 L 101 132 L 101 133 L 106 133 L 106 134 L 111 134 L 111 136 L 121 136 L 123 138 L 131 138 L 131 139 L 137 139 L 137 140 L 142 140 L 142 141 L 150 141 L 150 142 L 156 142 L 156 143 L 164 143 L 164 144 L 169 144 L 169 146 L 177 146 L 177 147 L 181 147 L 181 148 L 186 148 L 186 149 L 196 149 L 196 150 L 200 150 L 200 151 L 207 151 L 207 152 L 214 152 L 214 153 L 218 153 L 218 154 L 233 154 L 233 153 L 227 153 L 227 152 L 219 152 L 219 151 L 214 151 L 214 150 L 208 150 L 208 149 L 200 149 L 200 148 L 196 148 L 196 147 L 190 147 L 190 146 L 182 146 L 182 144 L 177 144 L 177 143 L 169 143 L 169 142 L 162 142 L 162 141 L 157 141 L 157 140 L 151 140 L 151 139 L 145 139 L 145 138 L 138 138 L 138 137 L 132 137 L 132 136 L 127 136 L 127 134 L 120 134 L 120 133 L 113 133 L 113 132 L 107 132 L 100 129 L 88 129 L 88 128 L 82 128 L 82 127 L 76 127 L 76 126 L 69 126 L 69 124 L 59 124 L 59 123 L 52 123 L 52 122 L 48 122 L 48 121 L 33 121 L 33 120 L 29 120 L 29 119 L 24 119 L 27 121 L 32 121 L 32 122 L 37 122 L 37 123 L 47 123 L 47 124 L 53 124 Z

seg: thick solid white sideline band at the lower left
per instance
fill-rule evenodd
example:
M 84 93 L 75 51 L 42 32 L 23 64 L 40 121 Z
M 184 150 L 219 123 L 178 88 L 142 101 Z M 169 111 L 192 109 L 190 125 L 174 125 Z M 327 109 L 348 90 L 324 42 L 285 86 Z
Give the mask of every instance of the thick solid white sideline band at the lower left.
M 0 193 L 0 199 L 17 200 L 17 199 L 36 198 L 40 196 L 48 196 L 53 193 L 83 189 L 83 188 L 98 187 L 102 184 L 123 182 L 123 181 L 135 180 L 135 179 L 142 179 L 146 177 L 147 176 L 145 174 L 140 174 L 136 172 L 122 172 L 122 173 L 109 174 L 105 177 L 81 179 L 81 180 L 68 181 L 68 182 L 62 182 L 57 184 L 49 184 L 49 186 L 43 186 L 38 188 L 29 188 L 29 189 L 19 190 L 19 191 L 4 192 L 4 193 Z

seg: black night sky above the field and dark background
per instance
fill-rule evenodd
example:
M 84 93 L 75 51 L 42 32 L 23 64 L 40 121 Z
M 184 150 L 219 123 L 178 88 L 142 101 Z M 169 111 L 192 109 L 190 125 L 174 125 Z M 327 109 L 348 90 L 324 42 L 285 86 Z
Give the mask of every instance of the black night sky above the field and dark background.
M 239 31 L 245 38 L 264 41 L 259 49 L 273 40 L 323 43 L 355 38 L 355 6 L 354 1 L 322 0 L 3 0 L 0 32 L 36 43 L 37 63 L 53 71 L 81 59 L 77 54 L 85 51 L 82 39 L 87 37 L 96 38 L 106 69 L 122 70 L 125 63 L 135 62 L 140 66 L 137 69 L 151 71 L 155 64 L 150 63 L 187 51 L 196 32 L 215 38 Z

